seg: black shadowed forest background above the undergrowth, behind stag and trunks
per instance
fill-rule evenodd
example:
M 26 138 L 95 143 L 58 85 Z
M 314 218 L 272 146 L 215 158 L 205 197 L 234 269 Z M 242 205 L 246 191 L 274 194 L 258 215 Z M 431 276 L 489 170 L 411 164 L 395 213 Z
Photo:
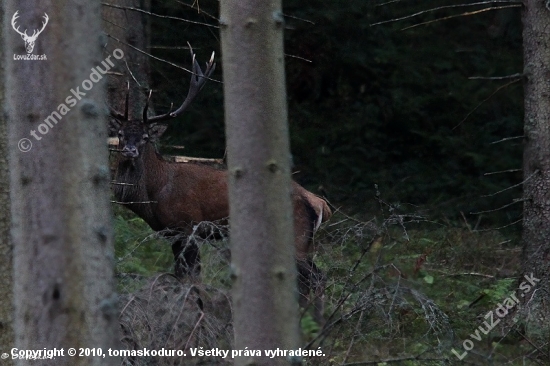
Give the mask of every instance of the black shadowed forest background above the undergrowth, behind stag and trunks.
M 155 1 L 151 11 L 217 26 L 217 2 L 199 5 Z M 522 135 L 521 82 L 501 78 L 522 70 L 520 10 L 457 16 L 488 7 L 481 4 L 427 11 L 442 5 L 284 2 L 294 179 L 350 213 L 376 209 L 376 184 L 385 200 L 432 217 L 506 225 L 521 205 L 469 214 L 521 194 L 518 187 L 493 195 L 521 182 L 521 139 L 496 143 Z M 219 60 L 217 28 L 149 19 L 153 55 L 185 66 L 189 41 L 199 59 L 216 50 Z M 151 70 L 155 105 L 164 111 L 183 97 L 187 76 L 155 60 Z M 222 70 L 218 63 L 214 79 Z M 167 153 L 222 157 L 222 85 L 210 83 L 167 136 L 168 144 L 185 146 Z M 488 175 L 508 170 L 515 171 Z

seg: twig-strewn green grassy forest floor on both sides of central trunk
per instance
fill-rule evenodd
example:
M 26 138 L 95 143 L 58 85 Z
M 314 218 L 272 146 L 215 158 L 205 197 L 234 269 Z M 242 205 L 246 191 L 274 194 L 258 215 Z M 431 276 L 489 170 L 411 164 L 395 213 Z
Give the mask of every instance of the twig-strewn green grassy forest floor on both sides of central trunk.
M 534 348 L 518 336 L 512 314 L 487 334 L 478 331 L 479 340 L 470 336 L 518 286 L 517 233 L 398 216 L 392 212 L 374 224 L 336 213 L 318 232 L 314 260 L 327 274 L 327 322 L 322 327 L 306 312 L 301 328 L 303 347 L 321 347 L 325 356 L 305 364 L 544 364 L 537 363 Z M 152 289 L 152 276 L 172 271 L 169 243 L 125 211 L 117 212 L 115 225 L 119 291 Z M 230 320 L 219 320 L 231 314 L 227 241 L 213 244 L 201 245 L 203 275 L 195 284 L 205 302 L 197 310 L 204 318 L 201 324 L 210 324 L 210 331 L 203 329 L 197 338 L 197 330 L 191 329 L 185 343 L 174 347 L 184 347 L 192 337 L 195 344 L 231 343 Z M 452 350 L 462 354 L 467 339 L 473 349 L 459 360 Z

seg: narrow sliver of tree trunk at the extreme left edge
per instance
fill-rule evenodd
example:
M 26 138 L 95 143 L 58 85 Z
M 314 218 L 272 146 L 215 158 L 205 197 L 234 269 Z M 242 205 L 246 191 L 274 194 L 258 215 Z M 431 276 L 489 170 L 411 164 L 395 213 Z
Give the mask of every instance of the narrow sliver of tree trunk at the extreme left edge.
M 4 4 L 0 3 L 0 19 Z M 0 28 L 0 40 L 4 41 L 4 29 Z M 0 47 L 3 59 L 4 47 Z M 0 105 L 4 105 L 4 64 L 0 64 Z M 8 170 L 8 130 L 4 114 L 0 114 L 0 350 L 13 347 L 13 247 L 10 238 L 10 189 Z M 5 362 L 5 361 L 4 361 Z

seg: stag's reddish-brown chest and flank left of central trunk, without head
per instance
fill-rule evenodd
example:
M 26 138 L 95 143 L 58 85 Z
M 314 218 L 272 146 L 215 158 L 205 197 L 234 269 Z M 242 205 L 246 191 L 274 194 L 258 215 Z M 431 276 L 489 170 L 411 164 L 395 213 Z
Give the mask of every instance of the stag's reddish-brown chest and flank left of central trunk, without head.
M 229 216 L 226 174 L 198 164 L 165 161 L 150 143 L 140 159 L 119 157 L 115 197 L 130 203 L 128 208 L 155 231 L 188 231 L 201 221 L 217 221 Z M 131 184 L 131 185 L 126 185 Z M 219 194 L 205 194 L 220 192 Z M 149 203 L 139 203 L 149 202 Z

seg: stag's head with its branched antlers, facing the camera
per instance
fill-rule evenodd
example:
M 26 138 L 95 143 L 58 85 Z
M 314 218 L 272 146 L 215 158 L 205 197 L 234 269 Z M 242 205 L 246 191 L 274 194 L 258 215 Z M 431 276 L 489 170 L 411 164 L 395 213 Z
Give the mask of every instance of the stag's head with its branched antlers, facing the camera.
M 126 93 L 124 114 L 119 113 L 111 108 L 111 116 L 114 119 L 111 120 L 109 127 L 112 132 L 116 132 L 118 135 L 118 146 L 123 156 L 131 159 L 139 157 L 142 147 L 145 146 L 147 142 L 149 142 L 150 140 L 156 140 L 160 136 L 162 136 L 168 126 L 166 124 L 160 124 L 159 122 L 171 120 L 177 117 L 183 111 L 185 111 L 187 107 L 191 104 L 193 99 L 195 99 L 195 97 L 199 94 L 201 89 L 204 87 L 206 80 L 208 80 L 208 78 L 216 68 L 216 64 L 214 63 L 214 52 L 212 52 L 212 57 L 210 57 L 210 60 L 206 63 L 206 69 L 203 73 L 199 66 L 199 63 L 195 59 L 195 54 L 193 53 L 193 50 L 191 49 L 191 47 L 189 47 L 189 49 L 191 50 L 191 56 L 193 58 L 191 83 L 189 86 L 187 97 L 178 109 L 172 111 L 172 105 L 172 107 L 170 107 L 170 110 L 165 114 L 148 116 L 147 110 L 152 94 L 151 90 L 149 91 L 149 96 L 147 98 L 147 102 L 145 103 L 145 108 L 143 108 L 143 116 L 141 120 L 130 120 L 128 118 L 129 90 Z

